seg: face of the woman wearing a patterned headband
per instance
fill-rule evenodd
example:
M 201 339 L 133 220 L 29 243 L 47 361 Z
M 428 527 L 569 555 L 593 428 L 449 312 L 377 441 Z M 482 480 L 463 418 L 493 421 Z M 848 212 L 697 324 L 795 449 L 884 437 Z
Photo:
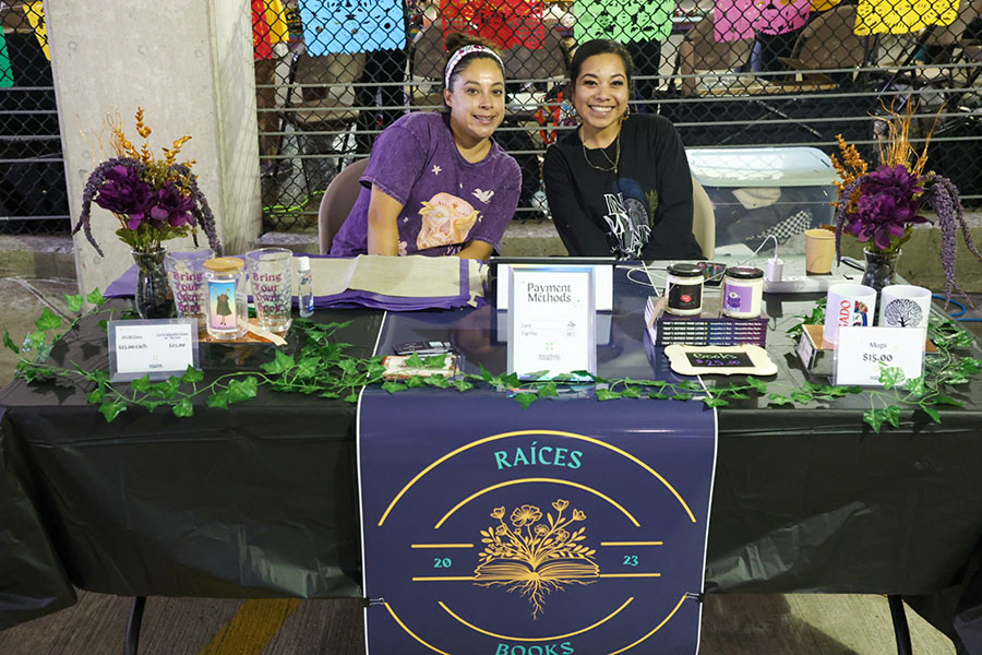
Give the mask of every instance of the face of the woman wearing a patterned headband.
M 454 139 L 462 147 L 475 147 L 504 119 L 504 75 L 493 59 L 481 57 L 458 67 L 451 84 L 443 99 L 451 108 Z

